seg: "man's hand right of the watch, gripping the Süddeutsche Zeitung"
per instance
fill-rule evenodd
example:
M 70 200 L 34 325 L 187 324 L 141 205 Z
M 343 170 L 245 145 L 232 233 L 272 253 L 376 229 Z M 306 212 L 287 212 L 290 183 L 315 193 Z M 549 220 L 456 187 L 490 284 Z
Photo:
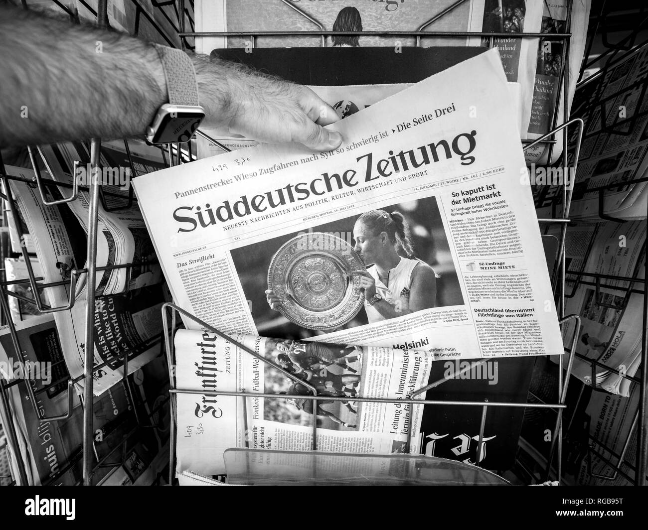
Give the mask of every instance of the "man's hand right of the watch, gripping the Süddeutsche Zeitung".
M 316 151 L 340 146 L 340 133 L 323 128 L 340 118 L 309 88 L 218 59 L 195 58 L 194 65 L 208 127 L 262 142 L 299 142 Z

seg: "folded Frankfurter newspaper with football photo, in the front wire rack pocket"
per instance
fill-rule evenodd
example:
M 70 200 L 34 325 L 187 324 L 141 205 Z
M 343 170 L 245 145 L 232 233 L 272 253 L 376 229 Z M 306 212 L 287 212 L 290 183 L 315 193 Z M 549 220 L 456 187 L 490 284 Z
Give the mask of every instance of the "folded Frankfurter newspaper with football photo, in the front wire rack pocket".
M 357 396 L 409 398 L 428 380 L 434 356 L 426 352 L 237 336 L 238 343 L 292 371 L 291 380 L 272 365 L 211 332 L 178 330 L 179 389 L 284 393 L 284 398 L 178 393 L 177 472 L 225 472 L 227 448 L 305 451 L 312 448 L 312 402 L 318 400 L 319 450 L 391 454 L 405 450 L 406 435 L 419 432 L 422 406 L 354 402 Z M 310 369 L 310 370 L 308 370 Z M 296 370 L 301 370 L 297 372 Z M 309 371 L 309 374 L 304 374 Z M 344 397 L 345 401 L 327 400 Z M 413 443 L 418 444 L 417 437 Z

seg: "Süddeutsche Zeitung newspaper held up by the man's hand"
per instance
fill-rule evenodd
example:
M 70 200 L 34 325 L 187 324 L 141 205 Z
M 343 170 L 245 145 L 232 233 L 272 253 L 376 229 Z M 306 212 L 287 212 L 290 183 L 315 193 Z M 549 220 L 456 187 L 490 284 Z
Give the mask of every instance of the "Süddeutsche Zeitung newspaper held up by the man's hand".
M 479 86 L 462 85 L 468 77 Z M 329 126 L 345 139 L 335 152 L 264 144 L 137 178 L 174 300 L 229 333 L 413 348 L 437 358 L 561 353 L 506 93 L 498 52 L 489 51 Z M 420 260 L 397 255 L 389 240 L 382 273 L 393 268 L 396 283 L 392 293 L 374 281 L 387 301 L 382 313 L 365 301 L 356 317 L 324 332 L 268 305 L 268 267 L 295 236 L 330 235 L 330 249 L 340 251 L 356 239 L 369 269 L 351 273 L 347 285 L 360 288 L 361 277 L 371 284 L 369 275 L 381 272 L 374 240 L 363 240 L 362 251 L 364 221 L 354 226 L 362 213 L 391 220 L 394 211 L 410 225 Z M 418 266 L 416 286 L 408 281 Z M 185 326 L 197 327 L 191 319 Z

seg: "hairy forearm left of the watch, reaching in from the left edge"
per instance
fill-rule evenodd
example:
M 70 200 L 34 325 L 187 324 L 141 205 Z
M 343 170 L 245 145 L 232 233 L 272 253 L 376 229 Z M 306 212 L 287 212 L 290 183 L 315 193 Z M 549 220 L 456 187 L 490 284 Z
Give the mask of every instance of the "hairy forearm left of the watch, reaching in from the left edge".
M 0 146 L 141 136 L 167 102 L 153 45 L 0 6 Z

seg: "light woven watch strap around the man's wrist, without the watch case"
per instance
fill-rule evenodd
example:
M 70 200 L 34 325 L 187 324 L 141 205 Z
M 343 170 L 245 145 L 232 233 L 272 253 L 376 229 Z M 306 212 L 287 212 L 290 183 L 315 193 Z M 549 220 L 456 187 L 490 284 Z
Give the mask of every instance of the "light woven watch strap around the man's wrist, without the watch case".
M 189 55 L 178 48 L 154 44 L 167 80 L 168 102 L 200 106 L 196 70 Z

